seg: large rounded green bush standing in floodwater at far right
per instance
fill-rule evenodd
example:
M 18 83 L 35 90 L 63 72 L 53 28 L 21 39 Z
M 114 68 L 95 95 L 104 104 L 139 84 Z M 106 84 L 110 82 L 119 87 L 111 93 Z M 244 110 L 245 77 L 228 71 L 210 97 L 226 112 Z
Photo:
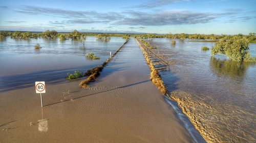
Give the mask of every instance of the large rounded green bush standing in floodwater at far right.
M 249 53 L 249 40 L 244 36 L 234 36 L 230 39 L 222 38 L 211 49 L 211 54 L 225 54 L 231 61 L 256 62 Z

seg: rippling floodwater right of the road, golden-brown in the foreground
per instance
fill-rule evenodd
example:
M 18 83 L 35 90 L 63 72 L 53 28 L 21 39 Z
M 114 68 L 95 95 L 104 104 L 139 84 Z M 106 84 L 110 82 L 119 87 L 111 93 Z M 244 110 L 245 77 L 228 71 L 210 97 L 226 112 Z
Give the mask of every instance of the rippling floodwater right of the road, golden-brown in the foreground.
M 211 57 L 214 43 L 148 40 L 170 63 L 161 72 L 171 96 L 208 142 L 256 141 L 256 65 Z M 256 44 L 250 44 L 256 56 Z

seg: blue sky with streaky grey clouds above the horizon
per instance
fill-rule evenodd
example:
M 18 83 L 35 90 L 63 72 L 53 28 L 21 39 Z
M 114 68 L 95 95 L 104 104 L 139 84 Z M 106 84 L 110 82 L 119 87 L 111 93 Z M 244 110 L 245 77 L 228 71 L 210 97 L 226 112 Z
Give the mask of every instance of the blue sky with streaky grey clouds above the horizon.
M 0 0 L 0 13 L 0 31 L 256 33 L 256 0 Z

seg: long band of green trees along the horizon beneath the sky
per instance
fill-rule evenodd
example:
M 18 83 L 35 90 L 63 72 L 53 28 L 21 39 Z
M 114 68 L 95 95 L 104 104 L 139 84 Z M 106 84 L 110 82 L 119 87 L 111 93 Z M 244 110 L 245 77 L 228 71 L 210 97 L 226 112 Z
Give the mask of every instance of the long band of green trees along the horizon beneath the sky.
M 42 33 L 32 33 L 32 32 L 6 32 L 1 31 L 0 32 L 0 40 L 4 40 L 6 37 L 10 36 L 11 38 L 15 39 L 30 39 L 30 38 L 48 38 L 48 39 L 56 39 L 59 38 L 59 40 L 64 41 L 67 39 L 72 40 L 79 40 L 81 37 L 86 36 L 96 36 L 98 40 L 102 41 L 109 41 L 110 37 L 123 37 L 124 39 L 127 39 L 131 36 L 133 37 L 140 37 L 143 39 L 152 39 L 152 38 L 171 38 L 171 39 L 195 39 L 195 40 L 212 40 L 213 42 L 216 42 L 219 39 L 226 38 L 231 39 L 234 36 L 242 36 L 247 38 L 249 41 L 255 41 L 256 40 L 256 34 L 255 33 L 249 33 L 248 35 L 238 34 L 238 35 L 215 35 L 215 34 L 98 34 L 98 33 L 80 33 L 77 30 L 74 30 L 71 33 L 57 33 L 55 30 L 47 30 Z

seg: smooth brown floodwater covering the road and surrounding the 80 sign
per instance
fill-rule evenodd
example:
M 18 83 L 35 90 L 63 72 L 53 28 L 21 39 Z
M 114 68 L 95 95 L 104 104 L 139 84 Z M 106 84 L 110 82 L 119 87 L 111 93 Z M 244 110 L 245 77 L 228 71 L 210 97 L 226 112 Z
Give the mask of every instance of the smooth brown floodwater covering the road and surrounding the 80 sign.
M 90 88 L 46 87 L 42 110 L 34 87 L 1 93 L 0 142 L 194 142 L 149 74 L 130 39 Z

